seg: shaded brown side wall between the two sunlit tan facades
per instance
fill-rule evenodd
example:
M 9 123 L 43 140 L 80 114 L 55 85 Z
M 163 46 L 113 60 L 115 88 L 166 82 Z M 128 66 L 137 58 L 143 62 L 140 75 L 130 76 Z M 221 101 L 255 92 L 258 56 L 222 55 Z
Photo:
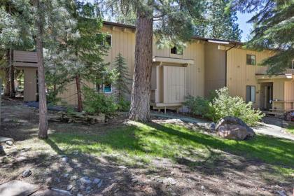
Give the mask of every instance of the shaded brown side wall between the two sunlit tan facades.
M 225 86 L 225 50 L 219 50 L 218 44 L 205 44 L 205 97 L 212 90 Z

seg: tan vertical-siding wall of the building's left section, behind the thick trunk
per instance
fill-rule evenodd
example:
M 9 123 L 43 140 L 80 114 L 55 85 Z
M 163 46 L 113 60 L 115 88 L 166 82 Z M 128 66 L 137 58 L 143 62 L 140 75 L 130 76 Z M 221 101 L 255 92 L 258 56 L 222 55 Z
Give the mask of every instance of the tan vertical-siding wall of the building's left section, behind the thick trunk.
M 102 31 L 112 36 L 112 45 L 109 50 L 109 55 L 104 58 L 105 62 L 110 63 L 110 68 L 113 68 L 113 62 L 120 52 L 125 57 L 127 66 L 129 67 L 130 76 L 133 77 L 134 73 L 134 49 L 135 49 L 135 32 L 134 29 L 125 29 L 123 27 L 109 27 L 104 26 Z M 173 55 L 170 53 L 169 48 L 159 49 L 153 42 L 153 56 L 158 57 L 175 57 L 181 59 L 193 59 L 194 64 L 184 68 L 185 70 L 185 94 L 193 96 L 204 96 L 204 42 L 192 41 L 188 43 L 186 48 L 183 49 L 183 55 Z M 163 76 L 163 70 L 158 69 Z M 170 76 L 169 80 L 173 80 Z M 154 78 L 154 77 L 153 77 Z M 160 83 L 160 79 L 158 78 Z M 88 84 L 94 87 L 92 84 Z M 157 84 L 153 81 L 152 87 Z M 161 84 L 162 85 L 162 84 Z M 163 86 L 162 86 L 163 87 Z M 151 92 L 152 93 L 152 92 Z M 76 85 L 71 83 L 66 87 L 66 90 L 59 97 L 67 104 L 76 105 Z M 159 94 L 159 99 L 162 100 L 163 94 Z M 151 98 L 152 99 L 152 98 Z M 162 100 L 163 101 L 163 100 Z

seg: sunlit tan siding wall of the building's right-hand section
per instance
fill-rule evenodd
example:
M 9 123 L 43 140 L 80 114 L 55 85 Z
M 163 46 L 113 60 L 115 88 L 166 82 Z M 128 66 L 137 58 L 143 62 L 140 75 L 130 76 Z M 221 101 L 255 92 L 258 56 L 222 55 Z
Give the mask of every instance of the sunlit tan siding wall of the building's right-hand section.
M 255 55 L 256 64 L 246 64 L 246 55 Z M 255 103 L 254 106 L 260 107 L 260 84 L 255 78 L 255 73 L 266 73 L 266 66 L 259 66 L 262 59 L 271 55 L 270 51 L 257 52 L 253 50 L 245 50 L 242 48 L 232 48 L 228 51 L 227 57 L 227 85 L 232 96 L 240 96 L 246 99 L 246 85 L 255 86 Z M 279 89 L 281 83 L 274 83 L 274 91 Z M 283 96 L 279 92 L 274 93 L 274 97 Z

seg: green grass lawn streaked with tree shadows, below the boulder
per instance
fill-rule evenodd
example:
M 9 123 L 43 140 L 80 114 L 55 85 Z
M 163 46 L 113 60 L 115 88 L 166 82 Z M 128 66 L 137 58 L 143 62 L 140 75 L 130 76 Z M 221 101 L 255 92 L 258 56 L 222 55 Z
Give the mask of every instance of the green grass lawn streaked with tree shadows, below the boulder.
M 263 135 L 248 141 L 233 141 L 179 125 L 134 123 L 103 132 L 55 132 L 47 142 L 64 153 L 80 151 L 106 155 L 125 165 L 148 165 L 154 158 L 180 162 L 186 157 L 190 160 L 189 166 L 193 167 L 211 157 L 221 158 L 226 152 L 265 162 L 284 174 L 294 173 L 294 142 Z

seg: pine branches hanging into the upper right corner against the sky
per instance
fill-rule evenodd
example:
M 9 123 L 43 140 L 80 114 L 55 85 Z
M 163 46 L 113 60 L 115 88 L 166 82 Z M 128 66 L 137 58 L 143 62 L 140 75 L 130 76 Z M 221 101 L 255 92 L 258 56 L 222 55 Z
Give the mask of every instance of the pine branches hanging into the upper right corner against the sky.
M 268 73 L 276 74 L 291 67 L 294 59 L 294 1 L 235 0 L 232 8 L 255 13 L 248 22 L 253 23 L 251 40 L 247 48 L 264 50 L 274 48 L 275 55 L 261 65 L 269 66 Z

